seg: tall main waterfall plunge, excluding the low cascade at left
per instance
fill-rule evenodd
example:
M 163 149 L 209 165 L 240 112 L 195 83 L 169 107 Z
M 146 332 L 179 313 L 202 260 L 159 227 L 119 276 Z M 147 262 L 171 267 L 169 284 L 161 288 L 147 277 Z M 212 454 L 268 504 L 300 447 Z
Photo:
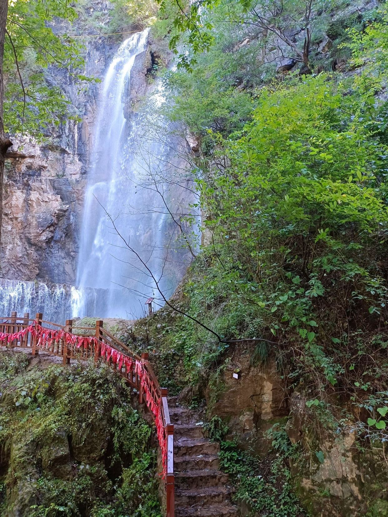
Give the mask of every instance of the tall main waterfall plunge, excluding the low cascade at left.
M 186 251 L 174 245 L 177 229 L 166 208 L 166 200 L 173 211 L 184 204 L 182 182 L 169 186 L 178 163 L 174 142 L 166 125 L 152 134 L 130 105 L 139 73 L 136 58 L 146 50 L 147 37 L 145 29 L 124 41 L 102 82 L 80 235 L 81 294 L 73 316 L 90 314 L 88 297 L 94 290 L 107 293 L 96 316 L 141 315 L 148 297 L 163 305 L 155 279 L 170 296 L 183 275 Z M 162 97 L 158 85 L 148 106 L 156 107 Z

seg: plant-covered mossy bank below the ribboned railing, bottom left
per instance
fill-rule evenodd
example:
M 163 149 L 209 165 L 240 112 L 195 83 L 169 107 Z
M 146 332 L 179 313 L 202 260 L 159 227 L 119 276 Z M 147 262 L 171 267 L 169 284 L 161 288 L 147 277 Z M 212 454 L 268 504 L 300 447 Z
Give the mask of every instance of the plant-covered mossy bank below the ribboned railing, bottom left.
M 28 372 L 25 366 L 23 354 L 0 354 L 5 504 L 16 497 L 13 480 L 27 480 L 39 469 L 31 485 L 37 503 L 28 513 L 34 517 L 159 517 L 152 428 L 132 409 L 123 380 L 104 364 Z M 71 474 L 66 455 L 62 471 L 60 465 L 50 468 L 51 451 L 68 442 Z

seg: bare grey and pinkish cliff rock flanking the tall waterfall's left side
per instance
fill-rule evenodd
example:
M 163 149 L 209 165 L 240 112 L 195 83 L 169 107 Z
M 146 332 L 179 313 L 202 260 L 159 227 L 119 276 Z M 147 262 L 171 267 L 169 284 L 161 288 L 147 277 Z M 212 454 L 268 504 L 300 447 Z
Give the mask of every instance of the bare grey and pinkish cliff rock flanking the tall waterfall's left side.
M 93 11 L 99 11 L 101 21 L 108 21 L 109 9 L 108 2 L 96 0 L 72 31 L 95 33 L 87 25 L 87 18 Z M 68 27 L 59 24 L 53 27 L 58 33 L 65 29 Z M 113 37 L 85 39 L 84 73 L 102 78 L 120 43 Z M 133 110 L 137 99 L 147 92 L 151 53 L 147 49 L 137 60 L 136 87 L 128 92 L 128 110 Z M 74 284 L 100 84 L 90 84 L 86 90 L 79 91 L 67 71 L 54 68 L 48 70 L 48 79 L 64 90 L 72 110 L 82 120 L 80 123 L 67 120 L 55 133 L 53 130 L 50 143 L 39 145 L 31 137 L 12 136 L 14 145 L 5 173 L 1 276 Z

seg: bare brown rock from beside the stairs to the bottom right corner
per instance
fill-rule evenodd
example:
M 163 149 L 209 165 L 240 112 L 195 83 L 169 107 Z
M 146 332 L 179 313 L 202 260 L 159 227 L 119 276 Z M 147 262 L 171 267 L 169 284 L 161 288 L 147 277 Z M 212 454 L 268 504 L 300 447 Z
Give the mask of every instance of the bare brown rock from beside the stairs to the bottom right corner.
M 297 461 L 290 463 L 295 492 L 309 515 L 385 515 L 388 479 L 384 449 L 376 446 L 362 450 L 355 433 L 335 435 L 324 429 L 317 433 L 317 441 L 317 435 L 311 433 L 306 398 L 296 391 L 288 397 L 275 364 L 252 367 L 243 348 L 236 349 L 233 357 L 238 359 L 228 363 L 218 382 L 219 392 L 214 394 L 214 383 L 206 390 L 207 404 L 213 414 L 228 422 L 231 437 L 242 448 L 253 449 L 264 458 L 271 449 L 265 431 L 287 420 L 291 443 L 301 444 L 304 450 Z M 236 371 L 238 378 L 233 377 Z M 317 451 L 323 452 L 321 461 Z M 240 510 L 242 515 L 249 511 L 243 507 Z

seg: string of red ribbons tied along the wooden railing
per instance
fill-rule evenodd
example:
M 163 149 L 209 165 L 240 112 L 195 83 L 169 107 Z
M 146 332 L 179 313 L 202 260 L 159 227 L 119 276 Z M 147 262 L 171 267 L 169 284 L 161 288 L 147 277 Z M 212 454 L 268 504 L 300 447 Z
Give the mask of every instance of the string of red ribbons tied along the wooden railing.
M 66 332 L 66 330 L 63 329 L 52 330 L 44 328 L 38 325 L 36 322 L 33 322 L 31 325 L 24 328 L 23 330 L 19 330 L 18 332 L 0 332 L 0 344 L 6 345 L 12 341 L 19 341 L 21 338 L 25 337 L 28 332 L 31 332 L 32 336 L 37 338 L 37 347 L 44 348 L 47 345 L 51 346 L 53 343 L 59 340 L 64 340 L 68 346 L 76 348 L 92 348 L 93 345 L 98 346 L 100 343 L 101 357 L 105 357 L 108 362 L 116 364 L 119 371 L 121 371 L 124 366 L 126 374 L 128 375 L 130 373 L 132 375 L 133 366 L 135 366 L 135 375 L 137 375 L 140 380 L 145 402 L 154 416 L 158 442 L 162 454 L 163 479 L 165 479 L 167 473 L 167 437 L 165 426 L 163 424 L 161 398 L 159 398 L 158 403 L 155 402 L 151 392 L 153 383 L 151 381 L 150 374 L 148 374 L 147 370 L 144 368 L 144 365 L 139 360 L 134 360 L 132 357 L 118 352 L 115 348 L 112 348 L 108 344 L 99 342 L 95 337 L 76 336 L 75 334 Z

